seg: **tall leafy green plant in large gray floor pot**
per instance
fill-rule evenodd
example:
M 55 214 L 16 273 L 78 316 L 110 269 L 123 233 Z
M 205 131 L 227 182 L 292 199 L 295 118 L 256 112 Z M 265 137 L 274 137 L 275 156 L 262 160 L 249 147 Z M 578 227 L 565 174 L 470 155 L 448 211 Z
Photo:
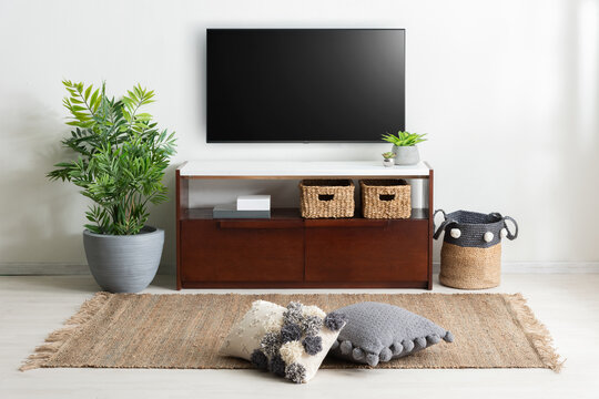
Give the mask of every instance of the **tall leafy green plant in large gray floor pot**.
M 105 84 L 63 82 L 69 95 L 71 135 L 62 144 L 77 157 L 55 164 L 48 177 L 69 181 L 93 204 L 83 245 L 98 284 L 112 293 L 136 293 L 154 278 L 164 231 L 146 226 L 148 205 L 167 200 L 162 183 L 174 154 L 174 133 L 159 130 L 142 108 L 154 92 L 141 85 L 121 100 L 105 94 Z

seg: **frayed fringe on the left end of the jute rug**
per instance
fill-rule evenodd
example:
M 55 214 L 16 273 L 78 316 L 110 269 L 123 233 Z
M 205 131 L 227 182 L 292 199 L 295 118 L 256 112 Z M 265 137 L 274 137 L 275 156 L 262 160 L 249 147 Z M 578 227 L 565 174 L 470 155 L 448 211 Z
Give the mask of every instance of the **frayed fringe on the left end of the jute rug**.
M 60 348 L 78 331 L 79 327 L 88 323 L 98 314 L 100 309 L 110 299 L 110 293 L 97 293 L 93 298 L 88 299 L 81 305 L 79 311 L 70 319 L 64 321 L 62 328 L 51 332 L 43 345 L 35 348 L 23 365 L 19 368 L 21 371 L 27 371 L 43 367 L 50 358 L 57 354 Z

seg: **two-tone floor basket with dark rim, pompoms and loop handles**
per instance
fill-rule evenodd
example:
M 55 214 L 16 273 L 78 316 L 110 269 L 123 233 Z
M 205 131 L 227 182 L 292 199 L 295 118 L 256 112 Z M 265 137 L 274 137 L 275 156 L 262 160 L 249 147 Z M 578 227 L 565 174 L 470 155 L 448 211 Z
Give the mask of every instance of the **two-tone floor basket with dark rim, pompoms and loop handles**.
M 457 211 L 445 214 L 435 239 L 445 231 L 441 246 L 440 284 L 463 289 L 497 287 L 501 279 L 501 238 L 518 237 L 518 225 L 509 216 Z M 514 234 L 506 221 L 514 223 Z

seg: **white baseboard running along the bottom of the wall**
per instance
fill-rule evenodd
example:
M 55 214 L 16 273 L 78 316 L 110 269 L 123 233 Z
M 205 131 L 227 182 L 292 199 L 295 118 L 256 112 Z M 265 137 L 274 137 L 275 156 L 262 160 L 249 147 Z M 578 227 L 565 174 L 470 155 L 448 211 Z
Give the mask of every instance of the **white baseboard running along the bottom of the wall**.
M 440 264 L 433 263 L 433 273 Z M 599 262 L 505 262 L 504 274 L 597 274 Z M 68 276 L 89 275 L 88 265 L 67 262 L 6 262 L 0 263 L 0 276 Z M 160 274 L 160 273 L 159 273 Z

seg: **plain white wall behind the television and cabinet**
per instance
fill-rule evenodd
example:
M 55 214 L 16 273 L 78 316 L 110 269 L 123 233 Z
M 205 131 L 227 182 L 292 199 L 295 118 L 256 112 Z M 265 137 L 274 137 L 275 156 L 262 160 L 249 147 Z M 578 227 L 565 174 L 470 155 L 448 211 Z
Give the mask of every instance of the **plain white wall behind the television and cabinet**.
M 521 225 L 507 262 L 599 260 L 599 2 L 0 1 L 0 263 L 83 263 L 87 201 L 44 178 L 68 133 L 62 79 L 152 88 L 173 160 L 378 158 L 386 144 L 206 145 L 209 27 L 406 28 L 407 129 L 427 132 L 436 206 Z M 173 170 L 166 183 L 173 187 Z M 173 193 L 171 192 L 171 196 Z M 174 265 L 174 204 L 162 270 Z

